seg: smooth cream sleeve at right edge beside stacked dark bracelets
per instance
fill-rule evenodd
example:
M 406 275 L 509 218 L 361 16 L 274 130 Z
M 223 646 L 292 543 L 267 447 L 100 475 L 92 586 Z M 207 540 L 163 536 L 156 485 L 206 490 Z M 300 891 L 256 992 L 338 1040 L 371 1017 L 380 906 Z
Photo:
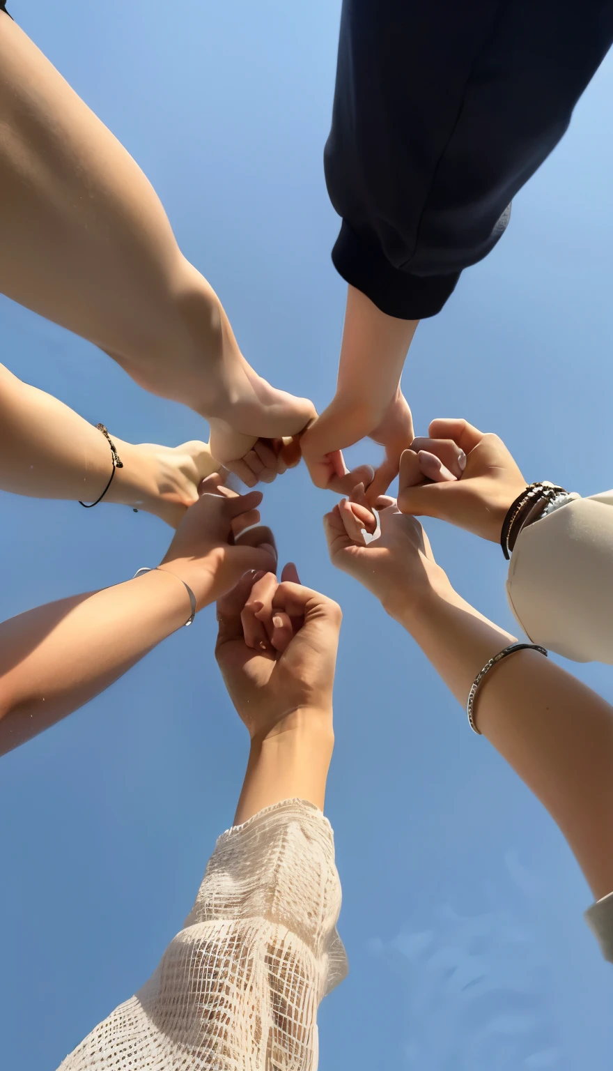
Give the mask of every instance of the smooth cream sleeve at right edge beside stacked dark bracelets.
M 533 643 L 613 665 L 613 491 L 576 498 L 523 528 L 507 594 Z

